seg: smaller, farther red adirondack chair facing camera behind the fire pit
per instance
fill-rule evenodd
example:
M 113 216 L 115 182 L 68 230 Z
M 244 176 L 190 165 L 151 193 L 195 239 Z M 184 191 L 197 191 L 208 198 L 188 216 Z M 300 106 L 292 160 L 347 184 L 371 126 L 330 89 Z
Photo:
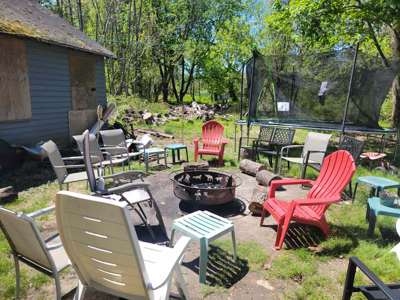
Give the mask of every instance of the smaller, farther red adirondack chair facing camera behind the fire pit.
M 197 156 L 200 158 L 204 155 L 215 155 L 220 159 L 220 167 L 222 166 L 222 158 L 224 158 L 224 148 L 228 141 L 222 140 L 222 132 L 224 126 L 217 121 L 208 121 L 202 126 L 203 137 L 195 138 L 194 142 L 194 161 L 197 162 Z M 203 140 L 203 148 L 199 149 L 199 141 Z M 221 149 L 218 150 L 221 144 Z

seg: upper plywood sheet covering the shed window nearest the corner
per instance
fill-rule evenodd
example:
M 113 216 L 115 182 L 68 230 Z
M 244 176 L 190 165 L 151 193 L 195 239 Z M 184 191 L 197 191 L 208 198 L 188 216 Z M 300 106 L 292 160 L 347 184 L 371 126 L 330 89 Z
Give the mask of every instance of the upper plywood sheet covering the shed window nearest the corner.
M 72 110 L 97 108 L 95 65 L 92 58 L 70 55 Z

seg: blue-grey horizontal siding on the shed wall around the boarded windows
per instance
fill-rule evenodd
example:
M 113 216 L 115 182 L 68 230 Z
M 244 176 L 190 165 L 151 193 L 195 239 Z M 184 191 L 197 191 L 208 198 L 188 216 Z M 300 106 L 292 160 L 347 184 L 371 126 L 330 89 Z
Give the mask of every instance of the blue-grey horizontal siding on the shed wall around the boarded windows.
M 93 58 L 98 105 L 107 106 L 104 59 L 85 52 L 26 40 L 32 119 L 0 122 L 0 138 L 29 146 L 40 140 L 69 142 L 68 110 L 72 110 L 69 54 Z

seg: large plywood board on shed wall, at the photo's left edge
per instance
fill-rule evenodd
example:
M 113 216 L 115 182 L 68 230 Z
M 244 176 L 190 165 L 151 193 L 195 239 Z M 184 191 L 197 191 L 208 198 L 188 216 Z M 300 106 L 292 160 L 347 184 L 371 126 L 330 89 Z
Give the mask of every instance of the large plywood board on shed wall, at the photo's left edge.
M 0 121 L 30 118 L 25 43 L 15 36 L 0 34 Z

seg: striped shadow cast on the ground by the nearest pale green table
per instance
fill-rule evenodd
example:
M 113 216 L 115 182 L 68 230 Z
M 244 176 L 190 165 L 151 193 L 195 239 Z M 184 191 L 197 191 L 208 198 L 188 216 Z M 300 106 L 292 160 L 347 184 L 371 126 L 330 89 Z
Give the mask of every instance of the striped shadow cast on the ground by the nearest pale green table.
M 206 281 L 210 286 L 230 288 L 249 272 L 248 262 L 244 258 L 237 256 L 234 262 L 232 254 L 212 244 L 209 247 Z M 191 262 L 183 262 L 182 266 L 199 274 L 199 264 L 200 258 L 196 258 Z

